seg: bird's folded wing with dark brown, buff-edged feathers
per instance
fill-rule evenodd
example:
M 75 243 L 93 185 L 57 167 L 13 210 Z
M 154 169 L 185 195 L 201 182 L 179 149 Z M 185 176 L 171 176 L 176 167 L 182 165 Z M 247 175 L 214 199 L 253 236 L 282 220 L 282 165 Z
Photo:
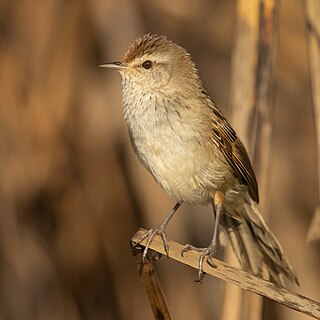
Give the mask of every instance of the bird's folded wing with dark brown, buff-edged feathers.
M 248 153 L 227 119 L 212 99 L 207 94 L 206 96 L 212 102 L 212 140 L 234 169 L 239 181 L 248 187 L 252 199 L 259 203 L 258 183 Z

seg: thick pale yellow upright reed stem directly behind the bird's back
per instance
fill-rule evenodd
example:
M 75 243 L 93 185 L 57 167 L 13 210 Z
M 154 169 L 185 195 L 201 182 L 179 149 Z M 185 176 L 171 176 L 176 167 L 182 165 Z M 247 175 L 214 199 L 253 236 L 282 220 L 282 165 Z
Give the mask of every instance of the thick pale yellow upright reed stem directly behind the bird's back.
M 231 69 L 231 123 L 251 155 L 250 128 L 252 119 L 254 119 L 256 99 L 259 0 L 239 0 L 236 19 Z M 230 246 L 227 247 L 225 255 L 229 264 L 238 263 Z M 238 287 L 226 283 L 223 295 L 221 320 L 241 319 L 244 313 L 243 292 Z M 230 299 L 236 299 L 236 301 L 232 300 L 234 308 L 230 308 Z M 256 316 L 256 319 L 259 319 L 259 315 Z

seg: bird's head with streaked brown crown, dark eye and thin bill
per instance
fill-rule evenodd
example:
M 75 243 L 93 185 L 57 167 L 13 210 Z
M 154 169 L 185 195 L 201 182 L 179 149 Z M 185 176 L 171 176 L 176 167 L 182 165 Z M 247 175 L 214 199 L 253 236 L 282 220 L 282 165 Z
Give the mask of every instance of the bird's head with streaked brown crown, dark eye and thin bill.
M 187 51 L 165 36 L 153 34 L 133 41 L 121 61 L 100 67 L 119 71 L 124 85 L 131 84 L 145 90 L 177 89 L 187 83 L 194 88 L 200 83 Z

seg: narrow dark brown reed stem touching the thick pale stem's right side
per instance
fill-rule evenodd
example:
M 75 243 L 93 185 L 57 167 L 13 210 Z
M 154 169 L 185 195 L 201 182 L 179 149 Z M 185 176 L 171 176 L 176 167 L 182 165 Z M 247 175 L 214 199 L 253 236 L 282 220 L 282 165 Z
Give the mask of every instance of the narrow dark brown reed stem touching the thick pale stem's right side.
M 256 121 L 253 165 L 259 177 L 260 210 L 264 217 L 268 212 L 268 185 L 270 176 L 271 139 L 273 130 L 273 73 L 277 53 L 279 0 L 263 0 L 260 7 L 259 59 L 256 80 Z M 249 128 L 248 128 L 249 129 Z

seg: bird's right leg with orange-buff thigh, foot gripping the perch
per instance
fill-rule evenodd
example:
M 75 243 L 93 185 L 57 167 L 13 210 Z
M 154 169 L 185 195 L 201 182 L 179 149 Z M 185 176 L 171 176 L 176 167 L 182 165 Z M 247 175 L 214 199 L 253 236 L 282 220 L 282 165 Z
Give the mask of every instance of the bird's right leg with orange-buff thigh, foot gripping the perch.
M 199 272 L 198 272 L 198 279 L 197 282 L 201 282 L 203 279 L 205 273 L 203 271 L 203 261 L 206 259 L 207 263 L 215 268 L 216 266 L 212 263 L 211 258 L 213 258 L 217 252 L 217 245 L 218 245 L 218 235 L 219 235 L 219 223 L 221 216 L 224 213 L 223 208 L 223 202 L 224 202 L 224 194 L 221 191 L 216 191 L 215 195 L 213 197 L 213 212 L 215 215 L 215 224 L 214 224 L 214 230 L 213 230 L 213 236 L 210 245 L 207 248 L 197 248 L 190 244 L 186 244 L 181 252 L 181 255 L 189 250 L 195 250 L 198 252 L 201 252 L 200 258 L 199 258 Z

